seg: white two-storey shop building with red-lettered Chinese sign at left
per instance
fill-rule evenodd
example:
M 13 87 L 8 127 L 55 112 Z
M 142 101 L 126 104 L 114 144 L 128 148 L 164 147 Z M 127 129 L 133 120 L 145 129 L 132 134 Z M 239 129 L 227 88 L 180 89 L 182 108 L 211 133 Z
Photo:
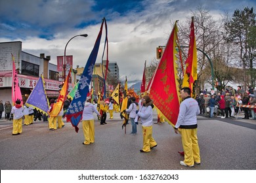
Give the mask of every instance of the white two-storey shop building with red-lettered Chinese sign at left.
M 22 42 L 0 42 L 0 100 L 12 102 L 12 55 L 16 71 L 18 71 L 19 86 L 24 103 L 37 84 L 39 77 L 43 75 L 45 90 L 49 99 L 59 95 L 59 81 L 57 66 L 50 63 L 51 56 L 32 54 L 22 51 Z M 70 84 L 72 90 L 74 84 Z

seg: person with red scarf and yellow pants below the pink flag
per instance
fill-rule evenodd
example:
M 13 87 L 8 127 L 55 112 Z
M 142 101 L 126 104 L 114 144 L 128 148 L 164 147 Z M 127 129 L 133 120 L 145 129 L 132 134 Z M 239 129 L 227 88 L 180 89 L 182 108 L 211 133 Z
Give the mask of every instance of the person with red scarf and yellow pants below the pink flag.
M 21 101 L 16 100 L 16 105 L 12 107 L 11 114 L 13 114 L 13 129 L 12 135 L 19 135 L 22 133 L 22 117 L 23 117 L 23 107 L 20 105 Z

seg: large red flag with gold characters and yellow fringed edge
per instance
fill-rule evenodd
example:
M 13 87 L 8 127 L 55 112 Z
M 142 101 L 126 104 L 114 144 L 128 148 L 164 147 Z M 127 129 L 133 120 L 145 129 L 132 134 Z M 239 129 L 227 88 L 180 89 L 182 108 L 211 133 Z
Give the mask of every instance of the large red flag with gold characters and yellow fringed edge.
M 179 115 L 179 81 L 177 75 L 177 21 L 173 27 L 163 56 L 150 82 L 148 95 L 167 122 L 175 126 Z

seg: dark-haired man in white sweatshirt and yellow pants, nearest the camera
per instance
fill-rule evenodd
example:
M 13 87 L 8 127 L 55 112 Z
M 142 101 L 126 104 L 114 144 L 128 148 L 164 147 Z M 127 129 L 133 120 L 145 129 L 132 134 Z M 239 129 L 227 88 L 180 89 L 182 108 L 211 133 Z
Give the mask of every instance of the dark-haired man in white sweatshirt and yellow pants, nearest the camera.
M 180 161 L 182 166 L 194 167 L 194 163 L 200 164 L 200 149 L 197 137 L 197 118 L 200 114 L 198 102 L 190 97 L 191 90 L 188 87 L 181 88 L 181 98 L 183 99 L 175 133 L 181 133 L 182 146 L 184 150 L 184 161 Z

